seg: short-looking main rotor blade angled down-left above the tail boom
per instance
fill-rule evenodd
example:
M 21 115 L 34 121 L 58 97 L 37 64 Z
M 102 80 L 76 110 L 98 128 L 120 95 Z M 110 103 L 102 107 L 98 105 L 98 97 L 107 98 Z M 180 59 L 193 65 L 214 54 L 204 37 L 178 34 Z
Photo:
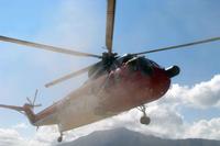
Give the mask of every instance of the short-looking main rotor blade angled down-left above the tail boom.
M 59 83 L 59 82 L 63 82 L 63 81 L 65 81 L 65 80 L 68 80 L 68 79 L 74 78 L 74 77 L 76 77 L 76 76 L 79 76 L 79 75 L 81 75 L 81 74 L 84 74 L 84 72 L 87 72 L 92 66 L 94 66 L 94 65 L 88 66 L 88 67 L 86 67 L 86 68 L 82 68 L 82 69 L 80 69 L 80 70 L 78 70 L 78 71 L 68 74 L 68 75 L 66 75 L 66 76 L 64 76 L 64 77 L 62 77 L 62 78 L 58 78 L 58 79 L 56 79 L 56 80 L 53 80 L 53 81 L 46 83 L 45 87 L 48 88 L 48 87 L 55 86 L 55 85 L 57 85 L 57 83 Z

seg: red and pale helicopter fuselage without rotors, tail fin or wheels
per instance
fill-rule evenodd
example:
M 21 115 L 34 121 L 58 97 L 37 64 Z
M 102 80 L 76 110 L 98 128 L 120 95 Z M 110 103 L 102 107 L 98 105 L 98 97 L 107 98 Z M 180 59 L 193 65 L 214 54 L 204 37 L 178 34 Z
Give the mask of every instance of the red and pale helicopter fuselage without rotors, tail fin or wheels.
M 136 66 L 133 61 L 127 61 L 109 74 L 85 82 L 63 100 L 36 114 L 38 120 L 34 125 L 57 124 L 59 131 L 65 132 L 163 97 L 170 86 L 170 69 L 168 72 L 152 65 L 150 70 L 143 71 Z

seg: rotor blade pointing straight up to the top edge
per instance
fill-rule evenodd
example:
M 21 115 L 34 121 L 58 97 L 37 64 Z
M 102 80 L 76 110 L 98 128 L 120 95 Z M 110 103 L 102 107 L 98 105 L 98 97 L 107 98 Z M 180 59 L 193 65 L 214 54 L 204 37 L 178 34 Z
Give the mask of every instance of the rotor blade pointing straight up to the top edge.
M 111 54 L 112 52 L 114 12 L 116 12 L 116 0 L 108 0 L 106 46 L 109 54 Z

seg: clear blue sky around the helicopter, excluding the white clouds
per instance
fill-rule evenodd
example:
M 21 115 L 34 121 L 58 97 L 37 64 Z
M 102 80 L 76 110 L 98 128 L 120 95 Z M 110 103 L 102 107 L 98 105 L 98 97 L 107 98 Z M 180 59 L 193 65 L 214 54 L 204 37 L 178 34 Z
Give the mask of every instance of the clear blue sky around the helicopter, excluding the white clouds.
M 218 0 L 118 0 L 113 50 L 122 55 L 220 36 L 219 5 Z M 106 0 L 2 0 L 0 35 L 101 54 Z M 190 88 L 220 72 L 219 47 L 216 42 L 147 57 L 164 67 L 178 65 L 182 74 L 173 82 Z M 8 43 L 0 43 L 0 103 L 6 104 L 23 104 L 40 88 L 38 101 L 50 105 L 79 87 L 86 76 L 52 89 L 44 83 L 97 61 Z M 179 112 L 189 123 L 220 116 L 218 106 L 185 106 Z M 1 128 L 28 123 L 15 112 L 0 110 L 0 115 Z M 34 133 L 31 127 L 28 131 Z

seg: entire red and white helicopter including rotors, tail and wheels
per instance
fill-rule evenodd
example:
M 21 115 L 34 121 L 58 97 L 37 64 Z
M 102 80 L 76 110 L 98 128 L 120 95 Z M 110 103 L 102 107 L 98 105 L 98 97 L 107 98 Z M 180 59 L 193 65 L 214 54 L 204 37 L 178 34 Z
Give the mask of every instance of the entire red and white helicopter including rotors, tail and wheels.
M 37 90 L 33 98 L 26 98 L 28 103 L 22 106 L 0 104 L 0 108 L 15 110 L 28 116 L 30 123 L 36 127 L 57 125 L 61 133 L 57 138 L 63 141 L 64 132 L 77 128 L 131 109 L 138 108 L 143 115 L 140 123 L 148 125 L 151 119 L 146 115 L 146 103 L 161 99 L 169 89 L 172 78 L 180 72 L 176 65 L 164 68 L 144 55 L 169 49 L 187 48 L 220 41 L 220 37 L 201 40 L 175 46 L 148 49 L 141 53 L 130 53 L 119 56 L 112 49 L 114 15 L 117 0 L 107 0 L 106 48 L 102 55 L 82 53 L 70 48 L 45 45 L 8 36 L 0 41 L 31 46 L 40 49 L 56 52 L 79 57 L 95 57 L 100 61 L 68 74 L 45 85 L 46 88 L 58 85 L 81 74 L 88 74 L 88 80 L 78 89 L 72 91 L 59 101 L 35 114 Z M 188 47 L 189 48 L 189 47 Z

